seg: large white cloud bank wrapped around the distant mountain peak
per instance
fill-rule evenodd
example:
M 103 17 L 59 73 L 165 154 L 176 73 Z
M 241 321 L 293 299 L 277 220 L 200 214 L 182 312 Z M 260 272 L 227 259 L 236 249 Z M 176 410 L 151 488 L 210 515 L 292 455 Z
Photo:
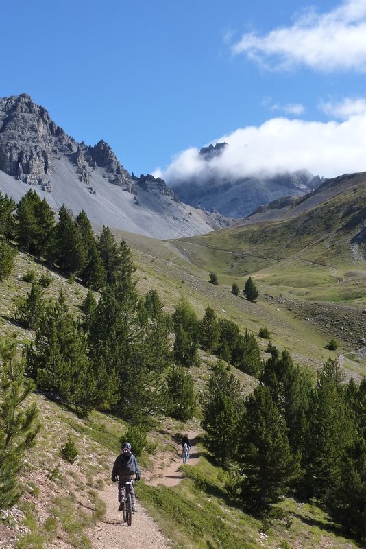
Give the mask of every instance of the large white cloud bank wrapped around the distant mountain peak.
M 204 160 L 189 148 L 176 156 L 164 172 L 169 185 L 199 177 L 236 178 L 307 169 L 333 177 L 366 171 L 366 111 L 345 121 L 303 121 L 273 118 L 261 126 L 240 128 L 213 143 L 226 141 L 219 156 Z

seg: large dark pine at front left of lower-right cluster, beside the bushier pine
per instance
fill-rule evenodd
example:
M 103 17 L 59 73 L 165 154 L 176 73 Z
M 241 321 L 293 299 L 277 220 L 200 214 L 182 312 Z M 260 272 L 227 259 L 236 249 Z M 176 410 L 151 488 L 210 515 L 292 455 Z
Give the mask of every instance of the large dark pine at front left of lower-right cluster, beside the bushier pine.
M 247 509 L 262 514 L 286 495 L 300 474 L 286 424 L 267 387 L 259 385 L 247 397 L 238 435 L 241 498 Z

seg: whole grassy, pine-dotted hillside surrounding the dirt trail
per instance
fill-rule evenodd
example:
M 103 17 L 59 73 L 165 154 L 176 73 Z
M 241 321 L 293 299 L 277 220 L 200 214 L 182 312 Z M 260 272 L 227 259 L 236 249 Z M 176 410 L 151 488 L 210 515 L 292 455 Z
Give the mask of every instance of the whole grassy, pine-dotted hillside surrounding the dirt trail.
M 8 256 L 0 295 L 0 399 L 8 403 L 1 413 L 14 408 L 23 425 L 10 434 L 15 442 L 8 452 L 0 413 L 0 482 L 8 487 L 0 504 L 4 547 L 92 547 L 121 436 L 138 451 L 147 479 L 136 487 L 138 498 L 172 547 L 363 546 L 363 301 L 337 294 L 324 303 L 319 296 L 330 292 L 327 281 L 303 288 L 304 275 L 295 288 L 276 281 L 275 271 L 265 276 L 283 261 L 301 273 L 310 259 L 297 265 L 297 256 L 310 257 L 312 246 L 321 250 L 313 237 L 318 226 L 329 250 L 344 251 L 330 253 L 328 265 L 339 259 L 332 268 L 350 268 L 359 261 L 362 271 L 362 257 L 346 251 L 362 231 L 363 202 L 349 213 L 343 202 L 333 197 L 324 211 L 319 206 L 282 225 L 212 233 L 204 237 L 209 246 L 128 233 L 116 233 L 117 241 L 123 237 L 117 244 L 106 227 L 96 237 L 85 215 L 74 221 L 66 210 L 58 224 L 49 217 L 51 238 L 42 240 L 39 202 L 29 195 L 32 233 L 21 231 L 18 205 L 1 240 L 6 253 L 14 242 L 24 250 Z M 337 242 L 335 224 L 326 229 L 326 211 L 344 220 L 343 240 Z M 280 259 L 272 252 L 262 267 L 228 274 L 245 261 L 244 243 L 253 244 L 248 262 L 255 264 L 261 246 L 265 261 L 271 229 L 272 249 L 295 229 L 303 245 L 289 241 Z M 232 266 L 225 261 L 234 253 L 235 231 L 243 246 Z M 286 273 L 293 284 L 295 270 Z M 259 292 L 252 301 L 243 294 L 249 274 Z M 12 401 L 12 386 L 27 388 L 21 406 L 17 397 Z M 183 467 L 175 487 L 151 485 L 187 430 L 199 432 L 199 462 Z

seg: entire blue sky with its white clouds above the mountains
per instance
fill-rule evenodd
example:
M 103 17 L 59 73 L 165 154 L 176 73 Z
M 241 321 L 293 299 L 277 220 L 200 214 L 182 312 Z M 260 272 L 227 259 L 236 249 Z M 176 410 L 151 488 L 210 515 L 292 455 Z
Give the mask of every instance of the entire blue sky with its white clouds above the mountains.
M 221 139 L 222 174 L 366 170 L 366 0 L 6 4 L 0 95 L 127 170 L 174 183 Z

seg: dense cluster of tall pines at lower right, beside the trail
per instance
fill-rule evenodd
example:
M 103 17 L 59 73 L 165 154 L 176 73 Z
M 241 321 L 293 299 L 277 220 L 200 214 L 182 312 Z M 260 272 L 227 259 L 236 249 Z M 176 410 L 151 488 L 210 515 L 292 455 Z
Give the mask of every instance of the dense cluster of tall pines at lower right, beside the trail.
M 202 397 L 206 446 L 236 471 L 230 490 L 263 516 L 286 495 L 316 498 L 345 530 L 366 537 L 366 379 L 344 382 L 329 358 L 313 380 L 271 345 L 260 383 L 242 388 L 218 362 Z

